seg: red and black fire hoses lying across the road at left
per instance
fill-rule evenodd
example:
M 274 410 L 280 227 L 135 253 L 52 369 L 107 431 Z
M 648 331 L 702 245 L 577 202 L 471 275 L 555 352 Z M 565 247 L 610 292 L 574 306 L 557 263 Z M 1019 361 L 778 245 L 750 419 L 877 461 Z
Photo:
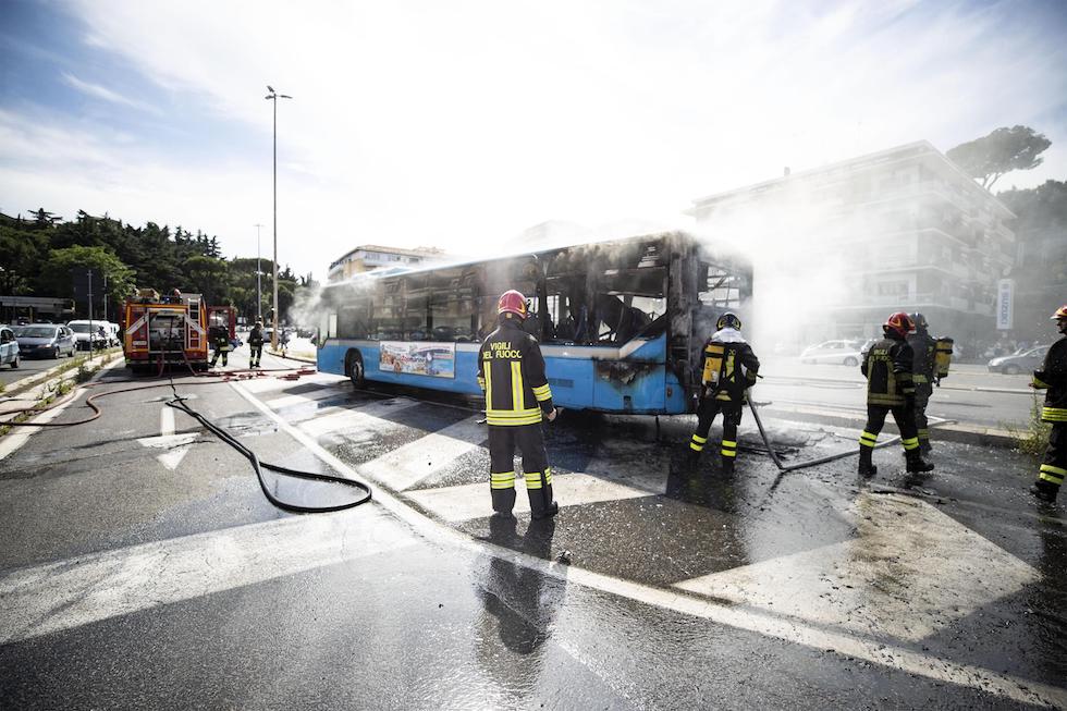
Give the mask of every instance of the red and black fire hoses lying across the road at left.
M 184 352 L 183 352 L 183 357 L 184 357 Z M 233 376 L 237 376 L 240 378 L 241 376 L 243 376 L 245 373 L 292 372 L 294 375 L 307 375 L 305 372 L 305 369 L 304 368 L 274 368 L 274 369 L 266 369 L 266 370 L 259 370 L 259 369 L 249 370 L 249 369 L 245 369 L 245 370 L 230 370 L 230 371 L 223 371 L 223 372 L 201 373 L 201 372 L 196 372 L 196 370 L 188 363 L 188 359 L 185 360 L 185 365 L 189 369 L 189 372 L 194 377 L 196 377 L 196 378 L 210 378 L 211 380 L 210 381 L 207 381 L 207 382 L 205 382 L 205 381 L 199 381 L 199 382 L 194 381 L 194 382 L 183 382 L 183 383 L 181 383 L 184 387 L 187 387 L 187 385 L 213 385 L 216 383 L 228 382 L 230 380 L 233 380 Z M 160 359 L 159 372 L 156 376 L 157 378 L 162 378 L 163 377 L 164 368 L 165 368 L 165 364 L 164 364 L 163 359 L 161 358 Z M 284 376 L 280 376 L 280 377 L 284 377 Z M 132 383 L 132 382 L 144 382 L 144 381 L 136 380 L 136 379 L 128 379 L 127 378 L 127 379 L 123 379 L 123 380 L 112 380 L 112 381 L 109 381 L 108 383 L 102 383 L 102 382 L 101 383 L 88 383 L 88 384 L 83 385 L 83 387 L 84 388 L 93 388 L 93 387 L 102 385 L 102 384 L 116 384 L 116 383 L 127 383 L 127 382 L 131 382 Z M 74 427 L 74 426 L 77 426 L 77 425 L 85 425 L 87 422 L 91 422 L 93 420 L 97 419 L 103 413 L 103 410 L 100 408 L 100 406 L 97 405 L 96 400 L 98 400 L 100 397 L 107 397 L 108 395 L 118 395 L 119 393 L 136 392 L 136 391 L 139 391 L 139 390 L 151 390 L 151 389 L 155 389 L 155 388 L 170 388 L 173 391 L 174 396 L 173 396 L 172 400 L 169 400 L 169 401 L 167 401 L 164 403 L 168 407 L 172 407 L 174 409 L 177 409 L 177 410 L 181 410 L 181 412 L 185 413 L 186 415 L 188 415 L 189 417 L 192 417 L 193 419 L 195 419 L 196 421 L 198 421 L 200 425 L 203 425 L 212 434 L 214 434 L 216 437 L 218 437 L 222 442 L 224 442 L 225 444 L 229 444 L 230 446 L 232 446 L 233 449 L 235 449 L 242 456 L 244 456 L 246 459 L 248 459 L 248 462 L 252 464 L 252 468 L 256 473 L 257 479 L 259 480 L 259 488 L 263 492 L 263 497 L 266 497 L 267 498 L 267 501 L 269 501 L 272 505 L 277 506 L 278 508 L 281 508 L 283 511 L 289 511 L 289 512 L 294 512 L 294 513 L 305 513 L 305 514 L 310 514 L 310 513 L 327 513 L 327 512 L 332 512 L 332 511 L 342 511 L 342 510 L 345 510 L 345 508 L 352 508 L 354 506 L 358 506 L 359 504 L 363 504 L 363 503 L 366 503 L 366 502 L 370 501 L 371 495 L 372 495 L 371 489 L 370 489 L 370 487 L 368 485 L 364 483 L 363 481 L 357 481 L 355 479 L 346 479 L 344 477 L 339 477 L 339 476 L 329 475 L 329 474 L 317 474 L 317 473 L 314 473 L 314 471 L 302 471 L 299 469 L 291 469 L 289 467 L 283 467 L 283 466 L 277 465 L 277 464 L 270 464 L 268 462 L 260 462 L 259 461 L 259 456 L 253 450 L 248 449 L 241 441 L 238 441 L 237 438 L 235 438 L 233 434 L 231 434 L 224 428 L 222 428 L 222 427 L 216 425 L 214 422 L 212 422 L 210 419 L 208 419 L 207 417 L 205 417 L 200 413 L 198 413 L 195 409 L 193 409 L 187 404 L 186 399 L 185 397 L 182 397 L 177 393 L 177 384 L 174 382 L 173 376 L 169 376 L 165 382 L 155 382 L 155 383 L 150 383 L 150 384 L 147 384 L 147 385 L 146 384 L 138 384 L 138 385 L 133 387 L 133 388 L 120 388 L 118 390 L 109 390 L 107 392 L 94 393 L 93 395 L 86 397 L 86 400 L 85 400 L 85 404 L 93 409 L 93 415 L 90 415 L 89 417 L 83 418 L 83 419 L 73 420 L 73 421 L 66 421 L 66 422 L 13 422 L 13 421 L 7 421 L 7 422 L 0 422 L 0 426 L 9 425 L 9 426 L 14 426 L 14 427 Z M 22 412 L 47 412 L 47 410 L 37 410 L 35 408 L 27 408 L 27 409 L 24 409 L 24 410 L 15 410 L 15 412 L 22 413 Z M 343 487 L 347 487 L 347 488 L 351 488 L 351 489 L 358 490 L 360 493 L 354 494 L 351 499 L 349 498 L 345 498 L 345 500 L 343 502 L 340 502 L 340 503 L 314 504 L 314 505 L 312 504 L 304 504 L 304 503 L 292 503 L 292 502 L 289 502 L 289 501 L 284 501 L 283 499 L 281 499 L 274 492 L 272 492 L 270 490 L 270 487 L 268 487 L 267 480 L 266 480 L 266 478 L 263 476 L 263 470 L 265 469 L 267 469 L 269 471 L 274 471 L 277 474 L 281 474 L 283 476 L 295 477 L 295 478 L 298 478 L 298 479 L 307 479 L 307 480 L 310 480 L 310 481 L 320 481 L 320 482 L 335 485 L 335 486 L 343 486 Z

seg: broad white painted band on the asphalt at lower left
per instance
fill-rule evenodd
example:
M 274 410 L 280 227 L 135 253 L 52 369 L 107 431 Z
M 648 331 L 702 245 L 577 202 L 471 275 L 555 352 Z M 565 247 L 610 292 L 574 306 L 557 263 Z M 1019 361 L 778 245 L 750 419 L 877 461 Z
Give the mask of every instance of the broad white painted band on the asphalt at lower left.
M 0 645 L 415 543 L 387 513 L 293 516 L 82 555 L 0 577 Z

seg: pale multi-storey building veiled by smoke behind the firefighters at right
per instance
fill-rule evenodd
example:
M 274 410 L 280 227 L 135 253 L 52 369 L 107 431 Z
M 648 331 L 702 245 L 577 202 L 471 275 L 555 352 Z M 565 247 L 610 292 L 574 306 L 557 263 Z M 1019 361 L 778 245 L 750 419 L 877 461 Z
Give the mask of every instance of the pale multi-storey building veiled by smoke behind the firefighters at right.
M 751 316 L 783 345 L 879 335 L 897 310 L 923 312 L 934 334 L 961 343 L 995 338 L 1015 216 L 924 140 L 786 170 L 687 212 L 751 257 Z

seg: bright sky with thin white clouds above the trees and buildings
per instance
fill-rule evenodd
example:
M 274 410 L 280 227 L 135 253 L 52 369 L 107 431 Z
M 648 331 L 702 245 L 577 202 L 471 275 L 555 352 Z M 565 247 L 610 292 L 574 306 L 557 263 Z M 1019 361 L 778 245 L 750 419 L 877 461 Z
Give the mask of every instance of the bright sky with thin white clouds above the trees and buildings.
M 0 0 L 0 211 L 218 235 L 324 280 L 1025 124 L 1067 180 L 1067 2 Z

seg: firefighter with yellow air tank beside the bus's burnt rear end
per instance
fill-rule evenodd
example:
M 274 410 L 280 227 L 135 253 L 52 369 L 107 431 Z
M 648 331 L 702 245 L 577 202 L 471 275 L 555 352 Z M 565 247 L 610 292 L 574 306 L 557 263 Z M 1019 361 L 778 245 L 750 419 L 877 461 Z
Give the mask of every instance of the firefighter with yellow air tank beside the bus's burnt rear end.
M 756 384 L 760 361 L 740 334 L 741 320 L 726 311 L 719 317 L 719 329 L 704 343 L 700 377 L 700 403 L 697 406 L 697 431 L 689 440 L 689 454 L 696 459 L 708 442 L 711 422 L 723 414 L 723 441 L 720 450 L 723 471 L 734 470 L 737 456 L 737 428 L 741 424 L 745 391 Z

